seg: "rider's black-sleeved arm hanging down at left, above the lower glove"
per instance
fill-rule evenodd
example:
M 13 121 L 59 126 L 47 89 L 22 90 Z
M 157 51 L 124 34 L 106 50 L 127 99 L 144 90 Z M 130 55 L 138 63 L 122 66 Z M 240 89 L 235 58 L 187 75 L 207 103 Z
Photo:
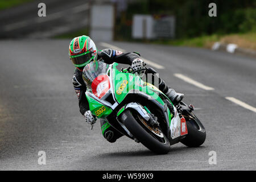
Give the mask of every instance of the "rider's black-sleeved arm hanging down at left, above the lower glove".
M 80 113 L 84 115 L 85 111 L 89 110 L 89 102 L 85 96 L 86 92 L 86 85 L 84 84 L 84 81 L 82 80 L 81 76 L 82 72 L 75 70 L 75 73 L 72 78 L 73 86 L 75 89 L 75 92 L 77 94 L 77 98 L 79 100 L 79 109 Z

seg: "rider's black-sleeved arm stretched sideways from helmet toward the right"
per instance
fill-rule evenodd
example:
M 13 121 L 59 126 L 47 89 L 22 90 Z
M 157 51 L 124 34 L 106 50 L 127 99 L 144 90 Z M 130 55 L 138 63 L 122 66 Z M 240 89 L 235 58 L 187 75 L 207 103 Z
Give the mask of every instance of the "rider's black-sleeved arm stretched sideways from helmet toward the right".
M 98 52 L 105 63 L 120 63 L 120 64 L 129 64 L 133 63 L 133 60 L 140 57 L 138 53 L 135 52 L 121 52 L 114 49 L 103 49 Z

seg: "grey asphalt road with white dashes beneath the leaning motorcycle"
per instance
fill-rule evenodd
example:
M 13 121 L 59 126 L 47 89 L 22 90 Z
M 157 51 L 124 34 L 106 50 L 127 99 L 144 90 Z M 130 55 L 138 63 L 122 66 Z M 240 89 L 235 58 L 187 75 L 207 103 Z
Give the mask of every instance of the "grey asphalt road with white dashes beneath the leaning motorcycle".
M 72 86 L 69 40 L 0 41 L 0 170 L 255 170 L 256 60 L 205 49 L 110 43 L 162 65 L 158 72 L 197 107 L 207 130 L 203 146 L 175 144 L 154 155 L 122 137 L 108 143 L 100 123 L 83 122 Z M 99 46 L 98 48 L 103 48 Z M 174 76 L 183 74 L 214 90 Z M 46 165 L 38 152 L 46 152 Z M 217 164 L 210 165 L 209 152 Z

